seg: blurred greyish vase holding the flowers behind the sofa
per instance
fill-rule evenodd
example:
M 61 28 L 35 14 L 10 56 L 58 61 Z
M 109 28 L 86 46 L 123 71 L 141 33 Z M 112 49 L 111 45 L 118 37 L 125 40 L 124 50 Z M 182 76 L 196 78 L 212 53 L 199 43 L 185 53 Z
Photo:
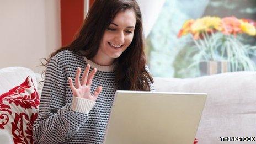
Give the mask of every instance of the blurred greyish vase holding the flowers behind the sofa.
M 199 63 L 200 76 L 229 72 L 228 61 L 207 61 Z

